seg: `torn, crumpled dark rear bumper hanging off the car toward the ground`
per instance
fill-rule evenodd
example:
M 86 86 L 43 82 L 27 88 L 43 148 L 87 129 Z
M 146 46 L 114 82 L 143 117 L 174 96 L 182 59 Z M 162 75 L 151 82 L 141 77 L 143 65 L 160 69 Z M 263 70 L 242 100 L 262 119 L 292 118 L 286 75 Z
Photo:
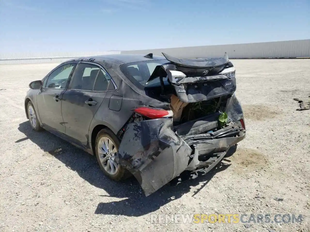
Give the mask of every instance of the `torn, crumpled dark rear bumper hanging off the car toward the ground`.
M 124 133 L 116 161 L 135 176 L 148 196 L 185 170 L 193 171 L 193 176 L 211 170 L 245 136 L 240 126 L 231 124 L 219 131 L 182 137 L 175 133 L 170 118 L 133 122 Z M 208 154 L 218 158 L 200 159 Z

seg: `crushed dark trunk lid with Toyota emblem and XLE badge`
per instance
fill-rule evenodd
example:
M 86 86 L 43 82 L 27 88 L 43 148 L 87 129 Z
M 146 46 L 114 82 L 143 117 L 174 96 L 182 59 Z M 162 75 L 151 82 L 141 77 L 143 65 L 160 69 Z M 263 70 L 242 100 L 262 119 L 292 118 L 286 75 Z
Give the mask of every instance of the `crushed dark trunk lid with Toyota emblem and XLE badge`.
M 234 67 L 226 53 L 222 58 L 187 60 L 163 55 L 170 62 L 158 65 L 148 79 L 149 82 L 160 78 L 163 95 L 163 78 L 168 78 L 177 97 L 185 103 L 207 101 L 236 91 Z

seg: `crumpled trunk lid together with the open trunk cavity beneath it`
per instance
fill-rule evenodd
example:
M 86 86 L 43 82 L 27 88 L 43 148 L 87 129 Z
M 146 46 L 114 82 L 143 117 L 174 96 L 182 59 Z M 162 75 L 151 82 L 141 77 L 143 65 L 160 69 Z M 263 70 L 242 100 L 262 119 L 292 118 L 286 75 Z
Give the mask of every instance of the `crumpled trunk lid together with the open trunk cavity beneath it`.
M 157 66 L 148 80 L 159 78 L 161 86 L 145 90 L 148 96 L 170 103 L 174 126 L 223 112 L 236 90 L 227 54 L 220 59 L 193 60 L 163 55 L 170 63 Z M 222 72 L 230 68 L 231 72 Z

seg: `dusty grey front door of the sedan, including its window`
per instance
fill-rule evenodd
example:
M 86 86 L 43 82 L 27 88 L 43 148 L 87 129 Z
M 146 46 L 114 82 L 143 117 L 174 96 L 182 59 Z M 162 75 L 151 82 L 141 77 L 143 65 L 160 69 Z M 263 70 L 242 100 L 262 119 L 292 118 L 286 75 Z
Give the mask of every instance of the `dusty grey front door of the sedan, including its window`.
M 52 71 L 43 88 L 37 95 L 38 114 L 43 127 L 51 128 L 59 133 L 65 132 L 61 115 L 62 97 L 68 87 L 68 80 L 77 62 L 66 63 Z

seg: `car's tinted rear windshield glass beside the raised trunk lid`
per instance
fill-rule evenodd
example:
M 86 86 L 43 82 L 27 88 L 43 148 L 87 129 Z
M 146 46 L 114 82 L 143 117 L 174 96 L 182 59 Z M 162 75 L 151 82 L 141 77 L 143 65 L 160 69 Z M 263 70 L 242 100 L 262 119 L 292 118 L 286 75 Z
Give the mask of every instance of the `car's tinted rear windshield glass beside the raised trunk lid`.
M 122 64 L 120 69 L 133 84 L 141 89 L 144 89 L 148 87 L 160 86 L 159 78 L 150 81 L 148 84 L 146 84 L 146 82 L 152 75 L 156 66 L 165 64 L 167 62 L 169 61 L 162 59 L 126 63 Z M 164 84 L 169 84 L 166 78 L 164 79 Z

